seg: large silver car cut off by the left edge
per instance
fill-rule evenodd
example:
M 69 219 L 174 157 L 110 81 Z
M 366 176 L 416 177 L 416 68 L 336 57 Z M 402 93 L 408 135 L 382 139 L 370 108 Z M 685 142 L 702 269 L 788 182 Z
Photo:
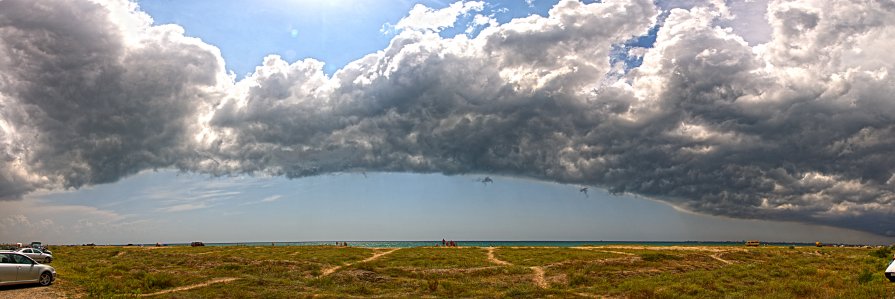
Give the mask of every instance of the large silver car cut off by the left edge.
M 38 264 L 17 252 L 0 252 L 0 285 L 38 283 L 48 286 L 56 280 L 56 269 Z

